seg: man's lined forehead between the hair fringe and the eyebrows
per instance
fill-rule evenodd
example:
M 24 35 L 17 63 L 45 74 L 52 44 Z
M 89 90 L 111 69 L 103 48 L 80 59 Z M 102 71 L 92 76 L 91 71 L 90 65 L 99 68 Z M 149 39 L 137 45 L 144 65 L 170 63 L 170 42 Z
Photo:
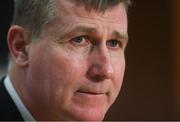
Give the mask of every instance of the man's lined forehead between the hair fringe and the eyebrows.
M 100 31 L 122 30 L 122 33 L 126 34 L 127 16 L 123 4 L 119 4 L 104 13 L 93 10 L 88 12 L 83 6 L 78 8 L 69 0 L 56 0 L 56 6 L 56 15 L 58 18 L 55 26 L 56 37 L 60 37 L 64 32 L 71 30 L 74 24 L 91 25 L 99 28 Z M 106 29 L 106 27 L 108 27 L 108 29 Z M 99 29 L 97 30 L 99 31 Z M 117 33 L 115 35 L 117 35 Z

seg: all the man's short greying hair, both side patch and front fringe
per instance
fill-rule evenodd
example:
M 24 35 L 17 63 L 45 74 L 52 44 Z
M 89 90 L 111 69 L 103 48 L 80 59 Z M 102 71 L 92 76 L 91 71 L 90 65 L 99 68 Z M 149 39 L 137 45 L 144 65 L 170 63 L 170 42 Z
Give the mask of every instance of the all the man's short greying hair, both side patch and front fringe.
M 77 5 L 85 5 L 89 10 L 105 11 L 120 2 L 128 8 L 130 0 L 71 0 Z M 13 25 L 20 25 L 38 38 L 43 27 L 55 18 L 55 0 L 15 0 Z

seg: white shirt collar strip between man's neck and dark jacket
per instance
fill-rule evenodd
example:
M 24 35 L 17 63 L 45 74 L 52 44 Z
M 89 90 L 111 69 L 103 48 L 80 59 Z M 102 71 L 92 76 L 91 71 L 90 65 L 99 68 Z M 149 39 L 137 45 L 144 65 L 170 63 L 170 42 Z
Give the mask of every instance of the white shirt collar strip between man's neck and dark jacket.
M 25 121 L 35 121 L 35 119 L 31 115 L 31 113 L 28 111 L 26 106 L 23 104 L 23 102 L 22 102 L 21 98 L 19 97 L 18 93 L 16 92 L 15 88 L 13 87 L 13 84 L 11 83 L 9 76 L 7 76 L 5 78 L 4 85 L 5 85 L 6 90 L 9 93 L 10 97 L 14 101 L 17 109 L 19 110 L 22 118 Z

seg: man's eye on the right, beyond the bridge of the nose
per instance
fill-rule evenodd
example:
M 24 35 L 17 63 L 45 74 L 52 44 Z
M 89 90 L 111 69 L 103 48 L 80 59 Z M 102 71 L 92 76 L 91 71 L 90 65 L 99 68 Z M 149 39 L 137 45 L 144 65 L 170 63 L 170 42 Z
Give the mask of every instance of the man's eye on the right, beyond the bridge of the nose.
M 122 48 L 121 42 L 115 39 L 107 41 L 107 46 L 113 49 Z

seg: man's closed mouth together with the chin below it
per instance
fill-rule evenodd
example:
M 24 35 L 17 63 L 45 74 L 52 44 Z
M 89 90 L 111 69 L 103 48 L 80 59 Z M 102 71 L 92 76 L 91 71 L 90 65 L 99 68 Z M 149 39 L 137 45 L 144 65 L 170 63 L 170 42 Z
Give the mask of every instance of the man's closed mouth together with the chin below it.
M 101 120 L 101 118 L 104 118 L 105 110 L 109 104 L 106 92 L 92 91 L 92 89 L 77 90 L 72 101 L 75 109 L 77 110 L 75 113 L 80 112 L 80 117 L 88 117 L 81 120 Z M 97 119 L 96 117 L 101 118 Z

